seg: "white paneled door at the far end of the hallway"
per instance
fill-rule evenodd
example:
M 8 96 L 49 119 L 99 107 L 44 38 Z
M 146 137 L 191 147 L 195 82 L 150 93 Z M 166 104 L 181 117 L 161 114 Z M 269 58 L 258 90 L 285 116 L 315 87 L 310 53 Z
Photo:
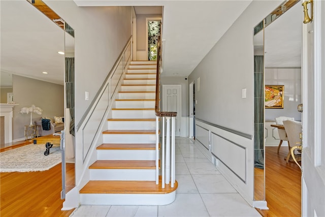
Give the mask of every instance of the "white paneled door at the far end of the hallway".
M 181 85 L 163 85 L 163 111 L 176 111 L 175 136 L 181 131 Z

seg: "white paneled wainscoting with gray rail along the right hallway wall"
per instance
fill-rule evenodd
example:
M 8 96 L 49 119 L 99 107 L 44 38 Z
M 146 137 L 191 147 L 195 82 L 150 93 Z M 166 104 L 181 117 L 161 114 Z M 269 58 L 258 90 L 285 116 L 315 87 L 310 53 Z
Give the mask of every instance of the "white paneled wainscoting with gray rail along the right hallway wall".
M 196 119 L 196 145 L 239 194 L 253 204 L 252 135 Z

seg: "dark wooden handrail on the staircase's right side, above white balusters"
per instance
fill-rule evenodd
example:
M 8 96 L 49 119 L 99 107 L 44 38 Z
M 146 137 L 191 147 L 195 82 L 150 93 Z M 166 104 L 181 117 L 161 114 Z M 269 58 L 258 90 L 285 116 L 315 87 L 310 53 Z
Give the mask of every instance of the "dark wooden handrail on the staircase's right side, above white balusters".
M 157 43 L 156 99 L 155 99 L 154 111 L 156 116 L 158 117 L 176 117 L 177 112 L 160 111 L 159 109 L 160 61 L 161 61 L 161 41 L 159 36 L 158 43 Z

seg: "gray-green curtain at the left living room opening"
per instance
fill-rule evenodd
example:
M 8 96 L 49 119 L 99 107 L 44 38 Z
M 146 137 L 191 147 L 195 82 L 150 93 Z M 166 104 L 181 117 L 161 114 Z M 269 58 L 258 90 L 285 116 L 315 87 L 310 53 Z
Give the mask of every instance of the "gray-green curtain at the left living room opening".
M 75 57 L 66 57 L 66 108 L 70 111 L 70 134 L 75 136 Z

